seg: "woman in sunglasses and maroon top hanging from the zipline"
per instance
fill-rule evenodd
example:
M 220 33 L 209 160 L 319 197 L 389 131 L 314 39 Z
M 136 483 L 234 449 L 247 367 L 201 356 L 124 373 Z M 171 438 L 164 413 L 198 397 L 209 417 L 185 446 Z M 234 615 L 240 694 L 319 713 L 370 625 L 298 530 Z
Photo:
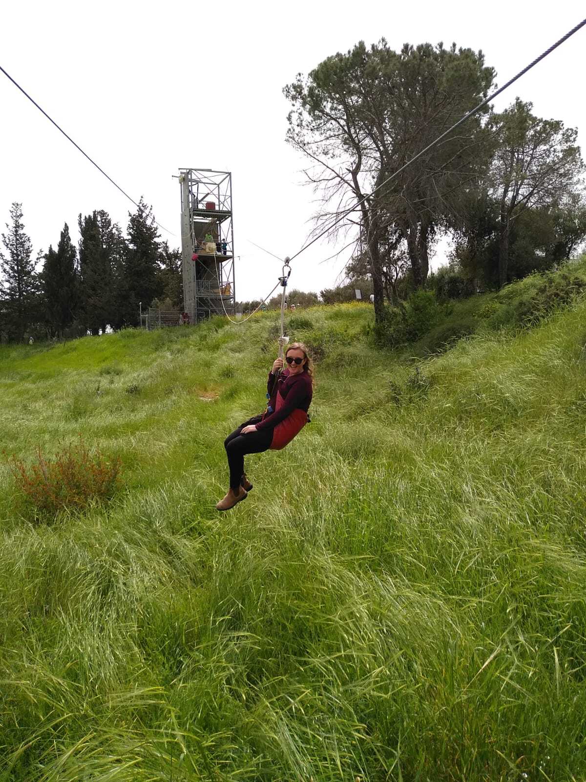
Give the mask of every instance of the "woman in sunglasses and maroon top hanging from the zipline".
M 313 366 L 303 343 L 293 343 L 283 359 L 273 361 L 266 383 L 269 404 L 266 412 L 248 418 L 224 440 L 230 468 L 230 489 L 216 505 L 218 511 L 228 511 L 244 500 L 252 483 L 244 471 L 245 454 L 260 454 L 263 450 L 280 450 L 306 425 L 307 411 L 313 395 Z

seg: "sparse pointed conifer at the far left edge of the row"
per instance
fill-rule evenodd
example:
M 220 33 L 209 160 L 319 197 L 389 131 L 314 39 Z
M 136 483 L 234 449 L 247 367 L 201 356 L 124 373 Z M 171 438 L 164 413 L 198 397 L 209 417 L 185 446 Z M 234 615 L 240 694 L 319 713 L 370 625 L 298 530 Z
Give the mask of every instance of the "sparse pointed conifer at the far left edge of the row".
M 10 207 L 11 223 L 2 243 L 7 256 L 0 253 L 2 284 L 2 315 L 5 332 L 10 339 L 22 340 L 30 325 L 38 322 L 39 284 L 35 261 L 30 259 L 32 242 L 24 232 L 22 204 L 16 201 Z

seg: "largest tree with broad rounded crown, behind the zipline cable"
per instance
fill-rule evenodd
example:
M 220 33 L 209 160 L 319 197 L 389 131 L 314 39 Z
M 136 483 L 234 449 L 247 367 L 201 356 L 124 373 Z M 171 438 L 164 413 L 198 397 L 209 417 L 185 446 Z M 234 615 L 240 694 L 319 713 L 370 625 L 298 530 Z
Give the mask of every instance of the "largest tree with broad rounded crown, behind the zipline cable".
M 488 156 L 481 117 L 388 179 L 481 102 L 493 77 L 482 52 L 455 44 L 406 44 L 394 52 L 381 39 L 328 57 L 284 88 L 288 142 L 312 161 L 309 181 L 323 195 L 316 228 L 349 229 L 366 249 L 377 317 L 383 258 L 401 242 L 415 284 L 425 282 L 431 242 L 453 194 L 477 180 Z M 332 217 L 344 210 L 334 226 Z

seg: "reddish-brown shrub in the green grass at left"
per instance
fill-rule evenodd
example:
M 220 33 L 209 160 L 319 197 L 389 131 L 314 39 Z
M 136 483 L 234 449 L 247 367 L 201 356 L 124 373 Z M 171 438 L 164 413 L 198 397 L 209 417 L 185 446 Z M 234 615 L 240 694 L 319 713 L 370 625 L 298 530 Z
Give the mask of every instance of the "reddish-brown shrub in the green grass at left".
M 55 516 L 65 508 L 80 511 L 92 501 L 109 500 L 120 480 L 120 457 L 108 461 L 99 451 L 91 454 L 83 439 L 47 459 L 37 450 L 37 463 L 9 460 L 16 487 L 34 511 Z

